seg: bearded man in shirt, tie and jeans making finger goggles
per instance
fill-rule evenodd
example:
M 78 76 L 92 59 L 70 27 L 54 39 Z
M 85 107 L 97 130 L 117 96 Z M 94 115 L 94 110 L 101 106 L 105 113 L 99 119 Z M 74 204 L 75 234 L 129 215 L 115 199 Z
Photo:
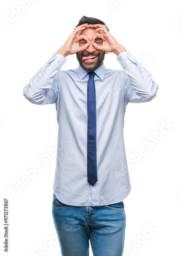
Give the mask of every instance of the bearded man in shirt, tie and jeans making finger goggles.
M 115 53 L 123 70 L 106 69 Z M 79 67 L 60 71 L 75 54 Z M 59 125 L 52 214 L 62 255 L 121 256 L 131 190 L 123 126 L 128 102 L 158 90 L 151 74 L 105 24 L 83 16 L 65 44 L 24 88 L 35 104 L 56 105 Z

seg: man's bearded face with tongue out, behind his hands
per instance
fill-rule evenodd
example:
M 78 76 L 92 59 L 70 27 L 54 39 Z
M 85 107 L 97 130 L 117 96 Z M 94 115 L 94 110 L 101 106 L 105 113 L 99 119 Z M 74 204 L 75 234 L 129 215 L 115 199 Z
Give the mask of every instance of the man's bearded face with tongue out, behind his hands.
M 87 71 L 94 71 L 98 69 L 102 65 L 105 57 L 105 51 L 96 50 L 92 45 L 92 38 L 97 33 L 99 32 L 94 28 L 87 28 L 81 32 L 81 35 L 88 37 L 90 45 L 84 51 L 77 52 L 76 55 L 80 66 Z M 100 46 L 103 44 L 103 41 L 100 38 L 96 38 L 95 42 Z M 83 46 L 84 44 L 86 44 L 84 39 L 79 41 L 80 46 Z

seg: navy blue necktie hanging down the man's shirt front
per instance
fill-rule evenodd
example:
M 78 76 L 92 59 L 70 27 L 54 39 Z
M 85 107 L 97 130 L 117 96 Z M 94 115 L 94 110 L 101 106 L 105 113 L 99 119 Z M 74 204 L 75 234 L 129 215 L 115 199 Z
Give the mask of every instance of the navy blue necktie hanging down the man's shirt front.
M 90 185 L 97 182 L 97 148 L 96 148 L 96 89 L 95 72 L 89 72 L 87 86 L 87 181 Z

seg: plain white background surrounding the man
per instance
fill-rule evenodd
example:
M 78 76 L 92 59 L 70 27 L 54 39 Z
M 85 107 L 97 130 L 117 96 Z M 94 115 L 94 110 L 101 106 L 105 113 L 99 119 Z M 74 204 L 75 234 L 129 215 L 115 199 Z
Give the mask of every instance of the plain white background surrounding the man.
M 124 200 L 124 255 L 181 255 L 181 1 L 34 0 L 27 9 L 22 6 L 18 0 L 1 2 L 1 253 L 7 255 L 6 197 L 8 255 L 61 255 L 52 218 L 56 109 L 54 104 L 30 103 L 22 91 L 86 15 L 103 20 L 159 86 L 152 101 L 129 103 L 126 108 L 124 136 L 132 188 Z M 15 16 L 16 11 L 21 14 Z M 113 53 L 104 63 L 106 68 L 122 69 Z M 62 69 L 77 67 L 72 55 Z M 41 159 L 46 152 L 53 156 L 45 164 Z M 40 171 L 23 183 L 36 165 Z

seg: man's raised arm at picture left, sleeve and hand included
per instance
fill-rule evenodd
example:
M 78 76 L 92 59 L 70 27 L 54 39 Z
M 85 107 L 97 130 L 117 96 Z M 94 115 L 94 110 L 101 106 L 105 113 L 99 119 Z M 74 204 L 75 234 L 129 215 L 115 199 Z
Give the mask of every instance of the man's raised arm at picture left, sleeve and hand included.
M 76 29 L 67 39 L 63 47 L 54 53 L 51 59 L 32 77 L 27 86 L 24 87 L 24 96 L 34 104 L 53 104 L 57 99 L 61 84 L 60 76 L 56 75 L 64 62 L 66 56 L 83 51 L 89 45 L 88 38 L 80 35 L 81 31 L 89 25 L 83 24 Z M 87 43 L 80 47 L 78 42 L 85 39 Z

